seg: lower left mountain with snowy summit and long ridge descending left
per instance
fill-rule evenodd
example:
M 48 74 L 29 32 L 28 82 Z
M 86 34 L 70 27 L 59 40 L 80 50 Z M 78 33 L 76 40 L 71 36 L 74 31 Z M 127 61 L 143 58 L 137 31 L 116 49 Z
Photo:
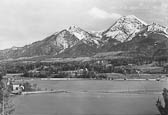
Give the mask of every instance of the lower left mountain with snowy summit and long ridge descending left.
M 13 47 L 0 51 L 0 59 L 34 57 L 45 55 L 57 55 L 71 48 L 80 41 L 90 47 L 99 47 L 100 38 L 77 27 L 70 26 L 60 32 L 56 32 L 44 40 L 34 42 L 24 47 Z M 79 44 L 79 43 L 78 43 Z M 78 45 L 77 45 L 78 46 Z

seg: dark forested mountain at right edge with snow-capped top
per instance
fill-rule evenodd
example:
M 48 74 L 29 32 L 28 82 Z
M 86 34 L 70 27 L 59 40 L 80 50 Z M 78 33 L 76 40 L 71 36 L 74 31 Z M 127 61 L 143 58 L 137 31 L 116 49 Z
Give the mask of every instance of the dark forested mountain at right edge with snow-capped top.
M 134 56 L 168 56 L 168 34 L 166 27 L 151 24 L 137 33 L 132 40 L 111 46 L 107 51 L 129 51 Z

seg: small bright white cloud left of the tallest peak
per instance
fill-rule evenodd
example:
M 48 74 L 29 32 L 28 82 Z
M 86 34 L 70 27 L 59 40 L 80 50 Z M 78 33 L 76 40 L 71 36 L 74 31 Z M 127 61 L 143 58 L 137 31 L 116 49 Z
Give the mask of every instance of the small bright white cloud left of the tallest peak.
M 93 16 L 94 18 L 99 18 L 99 19 L 118 19 L 121 17 L 120 14 L 118 13 L 108 13 L 102 9 L 99 9 L 97 7 L 93 7 L 92 9 L 89 10 L 89 15 Z

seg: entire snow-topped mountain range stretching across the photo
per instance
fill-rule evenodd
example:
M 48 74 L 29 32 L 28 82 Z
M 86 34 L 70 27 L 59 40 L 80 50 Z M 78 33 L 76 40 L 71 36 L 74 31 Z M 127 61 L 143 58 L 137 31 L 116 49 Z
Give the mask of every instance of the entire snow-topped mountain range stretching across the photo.
M 148 25 L 136 16 L 129 15 L 121 17 L 101 32 L 88 32 L 70 26 L 30 45 L 1 50 L 0 59 L 82 57 L 109 51 L 129 51 L 146 56 L 159 56 L 161 53 L 167 55 L 168 28 L 156 23 Z

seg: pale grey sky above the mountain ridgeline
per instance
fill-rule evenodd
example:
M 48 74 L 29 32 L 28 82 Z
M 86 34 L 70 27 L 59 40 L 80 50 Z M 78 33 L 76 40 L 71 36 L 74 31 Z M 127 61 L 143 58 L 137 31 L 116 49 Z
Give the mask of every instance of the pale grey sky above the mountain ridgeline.
M 168 26 L 168 0 L 0 0 L 0 50 L 42 40 L 76 25 L 87 31 L 135 15 Z

